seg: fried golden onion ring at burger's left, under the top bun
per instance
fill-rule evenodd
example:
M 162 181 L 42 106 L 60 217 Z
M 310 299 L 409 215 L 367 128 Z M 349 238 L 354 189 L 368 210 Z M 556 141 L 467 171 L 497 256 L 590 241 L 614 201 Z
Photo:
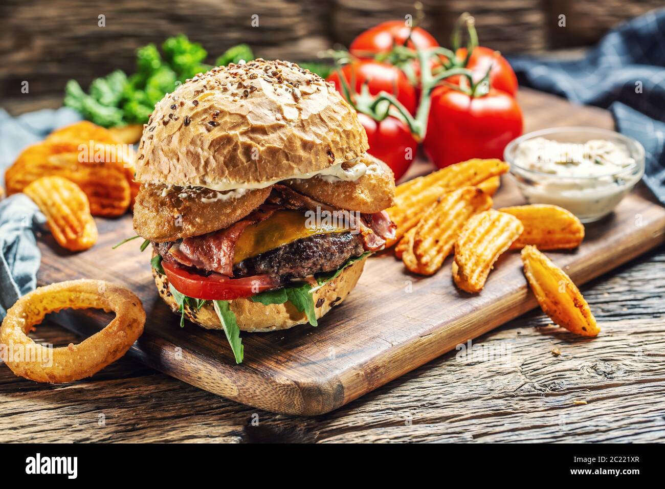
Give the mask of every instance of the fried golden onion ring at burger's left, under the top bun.
M 270 195 L 271 187 L 247 190 L 237 198 L 213 200 L 217 192 L 208 189 L 185 192 L 182 187 L 143 184 L 134 204 L 134 230 L 146 240 L 158 243 L 199 236 L 221 230 L 241 220 Z M 162 196 L 164 192 L 164 196 Z

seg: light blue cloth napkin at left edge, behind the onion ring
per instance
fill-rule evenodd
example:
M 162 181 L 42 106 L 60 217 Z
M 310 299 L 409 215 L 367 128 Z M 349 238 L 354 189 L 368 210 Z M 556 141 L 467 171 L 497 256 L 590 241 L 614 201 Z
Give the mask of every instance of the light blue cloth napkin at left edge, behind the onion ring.
M 0 108 L 0 184 L 4 185 L 5 170 L 23 148 L 80 118 L 70 108 L 39 110 L 18 117 Z M 41 253 L 34 230 L 44 222 L 43 214 L 27 196 L 16 194 L 0 200 L 0 319 L 21 295 L 37 286 Z

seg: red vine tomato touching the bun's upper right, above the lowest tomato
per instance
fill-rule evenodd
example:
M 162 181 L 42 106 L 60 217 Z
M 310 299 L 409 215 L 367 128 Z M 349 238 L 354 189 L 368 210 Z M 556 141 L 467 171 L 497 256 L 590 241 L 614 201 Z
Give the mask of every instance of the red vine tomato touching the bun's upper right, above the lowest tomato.
M 416 112 L 416 90 L 400 69 L 378 61 L 355 61 L 344 65 L 341 71 L 348 84 L 351 84 L 351 79 L 355 79 L 356 86 L 351 88 L 357 93 L 360 93 L 362 84 L 368 81 L 370 94 L 376 95 L 381 91 L 394 94 L 409 112 Z M 334 83 L 337 91 L 344 94 L 336 71 L 329 75 L 327 81 Z

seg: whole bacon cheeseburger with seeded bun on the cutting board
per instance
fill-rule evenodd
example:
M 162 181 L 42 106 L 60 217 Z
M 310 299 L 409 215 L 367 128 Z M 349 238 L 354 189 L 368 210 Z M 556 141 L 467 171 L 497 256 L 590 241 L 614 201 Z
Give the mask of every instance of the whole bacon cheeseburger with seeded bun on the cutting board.
M 394 176 L 354 109 L 285 61 L 217 67 L 166 94 L 136 154 L 134 229 L 158 293 L 207 329 L 318 324 L 394 237 Z

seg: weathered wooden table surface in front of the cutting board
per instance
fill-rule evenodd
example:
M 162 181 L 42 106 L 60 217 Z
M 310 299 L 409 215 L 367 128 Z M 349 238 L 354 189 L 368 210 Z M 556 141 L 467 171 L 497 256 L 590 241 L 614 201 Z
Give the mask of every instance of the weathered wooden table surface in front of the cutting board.
M 521 104 L 529 113 L 529 91 Z M 543 124 L 566 120 L 552 98 Z M 596 113 L 593 113 L 596 112 Z M 592 123 L 593 119 L 593 123 Z M 665 250 L 582 287 L 602 333 L 581 339 L 540 311 L 452 351 L 323 416 L 271 414 L 227 401 L 123 358 L 70 385 L 0 368 L 0 442 L 663 442 Z M 78 342 L 43 325 L 37 341 Z

